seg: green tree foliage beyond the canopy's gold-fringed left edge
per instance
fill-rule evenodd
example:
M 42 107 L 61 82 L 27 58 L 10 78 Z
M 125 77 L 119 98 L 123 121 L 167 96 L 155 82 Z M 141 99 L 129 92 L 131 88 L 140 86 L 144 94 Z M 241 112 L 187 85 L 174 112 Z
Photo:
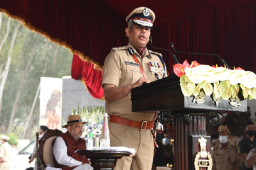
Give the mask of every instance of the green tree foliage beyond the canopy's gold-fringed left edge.
M 0 29 L 0 42 L 6 33 L 6 23 L 8 17 L 3 13 L 3 21 Z M 0 70 L 1 65 L 6 63 L 9 45 L 11 41 L 12 31 L 17 21 L 11 19 L 11 29 L 9 37 L 0 51 Z M 25 77 L 23 88 L 21 89 L 21 96 L 18 101 L 18 108 L 14 120 L 13 132 L 18 137 L 23 134 L 20 127 L 24 127 L 28 115 L 31 111 L 33 99 L 38 89 L 41 77 L 55 77 L 62 78 L 63 76 L 70 76 L 73 54 L 65 47 L 60 46 L 58 55 L 56 57 L 55 65 L 53 64 L 55 57 L 55 50 L 58 45 L 50 42 L 43 35 L 34 33 L 21 26 L 19 28 L 14 50 L 12 53 L 11 65 L 6 84 L 4 86 L 4 95 L 2 101 L 1 115 L 0 115 L 0 129 L 8 128 L 10 115 L 14 106 L 14 101 L 18 93 L 18 87 L 23 79 L 24 70 L 29 59 L 32 59 L 31 65 Z M 35 52 L 33 53 L 33 49 Z M 1 72 L 1 71 L 0 71 Z M 33 116 L 39 114 L 39 98 L 37 98 L 36 106 L 33 111 Z M 38 119 L 33 123 L 33 127 L 29 129 L 38 128 Z M 2 131 L 3 132 L 3 131 Z M 30 139 L 33 139 L 31 135 Z

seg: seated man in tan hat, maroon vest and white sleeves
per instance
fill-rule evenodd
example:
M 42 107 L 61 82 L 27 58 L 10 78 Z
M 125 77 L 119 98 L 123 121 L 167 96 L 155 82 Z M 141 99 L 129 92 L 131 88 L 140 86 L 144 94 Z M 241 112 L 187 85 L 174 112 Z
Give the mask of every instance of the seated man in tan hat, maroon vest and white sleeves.
M 92 170 L 90 162 L 86 157 L 75 154 L 78 149 L 85 150 L 86 142 L 80 137 L 82 126 L 87 122 L 82 122 L 80 115 L 68 116 L 68 131 L 58 136 L 53 145 L 54 166 L 63 170 Z

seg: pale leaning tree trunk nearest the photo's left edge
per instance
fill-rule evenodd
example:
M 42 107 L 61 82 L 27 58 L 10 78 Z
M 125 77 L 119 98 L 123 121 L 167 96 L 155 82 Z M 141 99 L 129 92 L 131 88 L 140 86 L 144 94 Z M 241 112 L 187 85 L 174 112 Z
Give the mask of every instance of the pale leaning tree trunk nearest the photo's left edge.
M 21 23 L 19 21 L 16 21 L 16 26 L 14 28 L 14 33 L 11 36 L 11 44 L 10 44 L 10 48 L 9 48 L 9 52 L 8 52 L 8 56 L 7 56 L 7 62 L 6 65 L 4 67 L 4 75 L 1 78 L 0 81 L 0 104 L 2 103 L 1 101 L 3 100 L 3 93 L 4 93 L 4 85 L 6 83 L 6 79 L 8 77 L 8 73 L 9 73 L 9 69 L 10 69 L 10 65 L 11 65 L 11 57 L 12 57 L 12 52 L 14 50 L 14 42 L 16 40 L 16 35 L 18 32 L 18 28 L 21 26 Z M 1 105 L 0 105 L 0 115 L 1 115 Z

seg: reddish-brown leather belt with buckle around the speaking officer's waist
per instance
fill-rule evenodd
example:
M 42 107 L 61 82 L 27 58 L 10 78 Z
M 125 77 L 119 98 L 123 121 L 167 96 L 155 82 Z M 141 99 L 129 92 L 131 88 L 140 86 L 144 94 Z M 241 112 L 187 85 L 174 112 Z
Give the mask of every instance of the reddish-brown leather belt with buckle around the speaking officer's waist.
M 138 128 L 140 130 L 146 130 L 146 129 L 152 129 L 154 128 L 154 120 L 149 122 L 149 121 L 142 121 L 142 122 L 137 122 L 134 120 L 129 120 L 126 118 L 121 118 L 115 115 L 110 115 L 110 122 L 112 123 L 117 123 L 119 125 L 126 125 L 132 128 Z

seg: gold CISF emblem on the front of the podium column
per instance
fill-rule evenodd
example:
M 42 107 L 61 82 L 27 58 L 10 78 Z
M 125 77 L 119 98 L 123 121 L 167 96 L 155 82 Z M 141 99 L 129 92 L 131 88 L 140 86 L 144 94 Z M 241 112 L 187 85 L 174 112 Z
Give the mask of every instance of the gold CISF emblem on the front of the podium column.
M 194 166 L 196 170 L 200 170 L 200 168 L 207 168 L 207 170 L 211 170 L 213 167 L 213 159 L 211 158 L 210 152 L 206 151 L 206 138 L 201 137 L 198 140 L 201 148 L 201 152 L 196 154 Z

